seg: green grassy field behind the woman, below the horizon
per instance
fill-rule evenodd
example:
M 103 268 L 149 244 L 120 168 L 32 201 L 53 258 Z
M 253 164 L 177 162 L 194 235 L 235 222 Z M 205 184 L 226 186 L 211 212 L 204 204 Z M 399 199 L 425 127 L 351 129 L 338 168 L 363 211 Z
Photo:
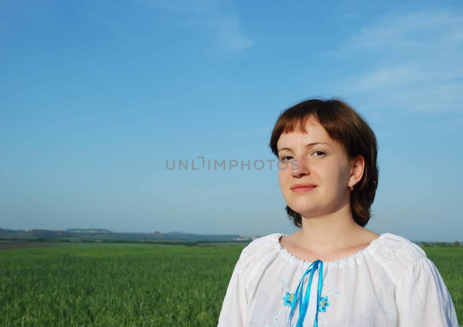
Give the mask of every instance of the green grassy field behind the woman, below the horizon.
M 0 251 L 0 326 L 217 326 L 245 246 L 58 245 Z M 462 322 L 463 248 L 425 251 Z

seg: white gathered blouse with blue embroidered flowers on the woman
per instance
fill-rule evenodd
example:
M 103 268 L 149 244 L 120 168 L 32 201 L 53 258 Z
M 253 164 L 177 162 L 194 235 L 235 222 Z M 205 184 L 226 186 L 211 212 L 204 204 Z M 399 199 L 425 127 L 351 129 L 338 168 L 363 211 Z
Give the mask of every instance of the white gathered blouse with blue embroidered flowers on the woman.
M 313 270 L 308 308 L 298 325 L 309 273 L 303 280 L 302 302 L 301 294 L 295 293 L 312 263 L 282 248 L 279 239 L 283 236 L 270 234 L 243 249 L 218 327 L 313 327 L 316 314 L 318 327 L 459 326 L 435 265 L 418 245 L 391 233 L 381 234 L 350 257 L 323 262 L 320 281 L 320 269 Z

